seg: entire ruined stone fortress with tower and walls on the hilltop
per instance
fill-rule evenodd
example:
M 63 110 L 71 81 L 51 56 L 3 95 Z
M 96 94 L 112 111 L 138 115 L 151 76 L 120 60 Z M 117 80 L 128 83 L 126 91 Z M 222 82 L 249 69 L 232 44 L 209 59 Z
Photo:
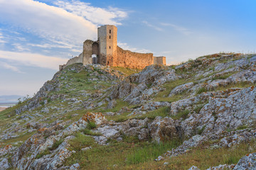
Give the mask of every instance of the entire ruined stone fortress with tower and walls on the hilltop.
M 70 64 L 102 64 L 112 67 L 144 69 L 151 64 L 166 65 L 166 57 L 154 57 L 152 53 L 138 53 L 123 50 L 117 46 L 117 27 L 111 25 L 97 28 L 97 41 L 85 40 L 82 53 L 78 57 L 60 65 L 60 70 Z

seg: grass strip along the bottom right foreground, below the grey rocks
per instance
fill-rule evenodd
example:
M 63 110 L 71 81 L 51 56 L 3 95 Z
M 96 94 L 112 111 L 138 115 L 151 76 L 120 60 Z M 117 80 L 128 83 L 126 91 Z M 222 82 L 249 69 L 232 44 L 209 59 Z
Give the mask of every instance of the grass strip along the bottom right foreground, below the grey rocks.
M 218 149 L 208 149 L 200 146 L 181 154 L 178 157 L 166 157 L 160 162 L 147 161 L 140 164 L 130 164 L 119 166 L 119 169 L 178 169 L 187 170 L 191 166 L 199 169 L 208 169 L 210 166 L 220 164 L 238 164 L 238 160 L 248 153 L 256 152 L 256 142 L 241 143 L 236 147 L 223 147 Z M 168 165 L 164 165 L 168 162 Z

